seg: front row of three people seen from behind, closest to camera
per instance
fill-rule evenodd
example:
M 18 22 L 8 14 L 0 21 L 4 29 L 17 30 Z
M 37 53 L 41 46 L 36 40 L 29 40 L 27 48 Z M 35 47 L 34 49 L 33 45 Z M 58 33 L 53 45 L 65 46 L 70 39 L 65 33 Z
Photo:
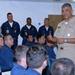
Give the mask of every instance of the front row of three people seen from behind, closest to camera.
M 48 53 L 42 44 L 30 47 L 19 45 L 15 49 L 15 58 L 11 75 L 42 75 L 47 66 Z M 60 58 L 52 63 L 49 72 L 51 75 L 75 75 L 75 64 L 68 58 Z

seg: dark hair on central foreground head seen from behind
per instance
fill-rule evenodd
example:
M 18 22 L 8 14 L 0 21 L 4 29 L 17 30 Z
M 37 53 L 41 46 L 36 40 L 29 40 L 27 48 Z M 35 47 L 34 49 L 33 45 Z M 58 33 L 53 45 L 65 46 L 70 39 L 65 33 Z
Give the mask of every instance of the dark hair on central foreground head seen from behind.
M 44 45 L 34 45 L 27 51 L 26 58 L 30 68 L 39 68 L 47 59 L 47 50 Z

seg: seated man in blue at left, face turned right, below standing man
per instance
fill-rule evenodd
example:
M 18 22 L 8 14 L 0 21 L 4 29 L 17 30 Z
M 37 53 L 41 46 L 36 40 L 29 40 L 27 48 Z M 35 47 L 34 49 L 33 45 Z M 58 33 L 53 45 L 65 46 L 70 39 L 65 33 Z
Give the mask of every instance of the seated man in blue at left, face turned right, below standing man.
M 6 35 L 4 37 L 4 46 L 0 51 L 0 66 L 2 71 L 9 71 L 13 67 L 14 54 L 11 46 L 14 44 L 11 35 Z

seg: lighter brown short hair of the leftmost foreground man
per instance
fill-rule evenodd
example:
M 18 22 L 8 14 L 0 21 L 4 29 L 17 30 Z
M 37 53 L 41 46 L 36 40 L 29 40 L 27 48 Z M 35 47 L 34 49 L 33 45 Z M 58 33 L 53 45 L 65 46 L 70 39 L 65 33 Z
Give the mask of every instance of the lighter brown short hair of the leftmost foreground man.
M 22 58 L 26 58 L 28 46 L 19 45 L 15 49 L 15 59 L 17 62 L 20 62 Z

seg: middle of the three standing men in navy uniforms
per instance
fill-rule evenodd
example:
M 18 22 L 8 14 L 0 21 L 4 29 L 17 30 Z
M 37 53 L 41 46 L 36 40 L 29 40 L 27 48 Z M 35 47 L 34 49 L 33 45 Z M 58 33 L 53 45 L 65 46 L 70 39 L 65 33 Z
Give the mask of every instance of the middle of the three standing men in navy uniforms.
M 31 34 L 34 39 L 35 39 L 35 37 L 37 35 L 37 29 L 35 28 L 35 26 L 33 26 L 31 24 L 32 20 L 31 20 L 30 17 L 27 18 L 26 22 L 27 22 L 27 24 L 22 27 L 21 33 L 20 33 L 21 37 L 23 38 L 23 41 L 22 41 L 23 45 L 26 42 L 26 36 L 28 34 Z

